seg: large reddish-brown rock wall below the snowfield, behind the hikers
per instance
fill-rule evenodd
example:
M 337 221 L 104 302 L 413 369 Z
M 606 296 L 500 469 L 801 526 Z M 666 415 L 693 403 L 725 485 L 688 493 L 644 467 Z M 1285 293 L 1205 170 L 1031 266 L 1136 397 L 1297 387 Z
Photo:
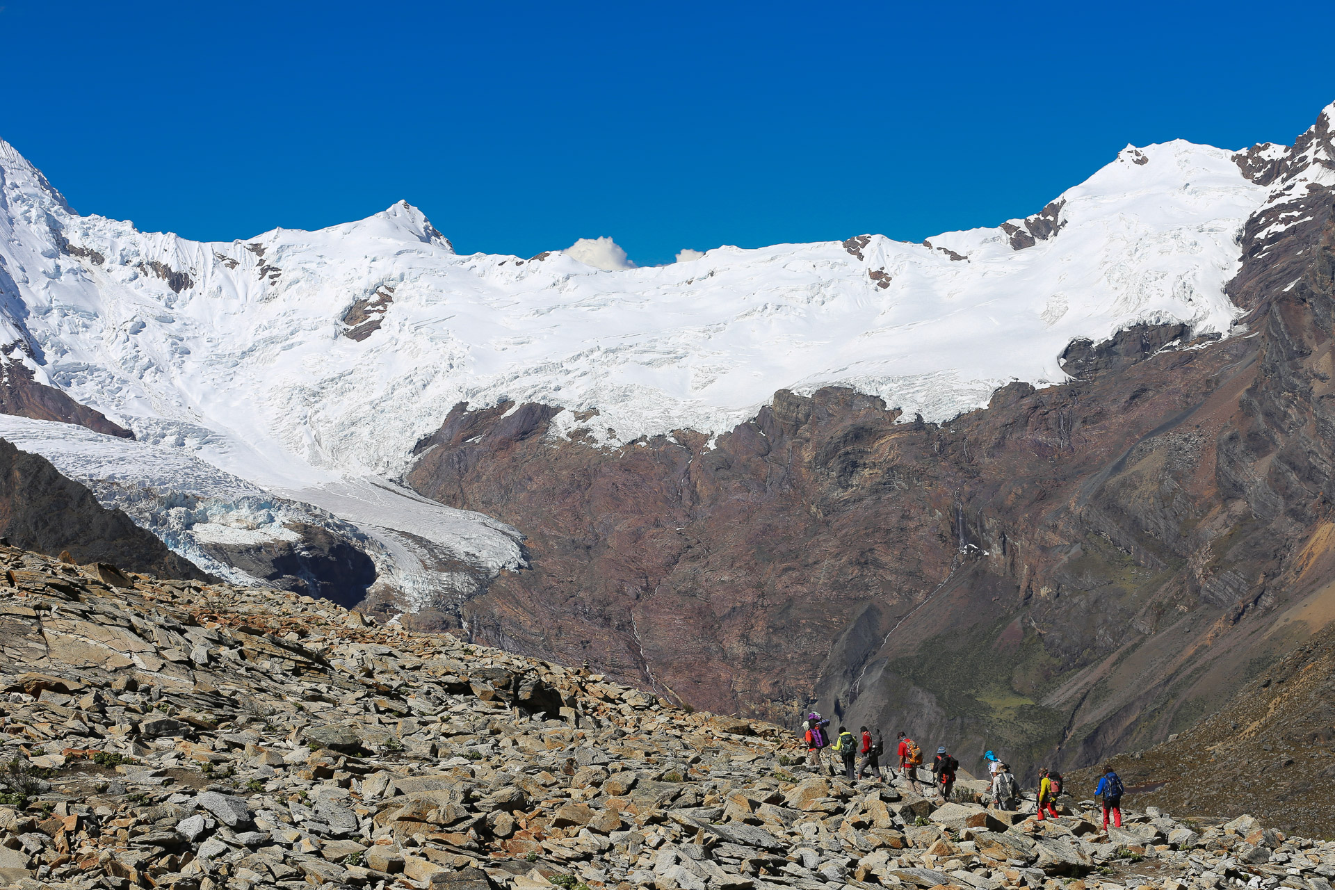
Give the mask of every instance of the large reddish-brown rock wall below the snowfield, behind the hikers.
M 967 765 L 1191 726 L 1335 614 L 1335 201 L 1310 181 L 1335 152 L 1300 143 L 1238 159 L 1275 189 L 1230 284 L 1246 336 L 1076 342 L 1072 382 L 940 427 L 830 388 L 597 448 L 547 406 L 457 407 L 407 482 L 523 530 L 533 566 L 465 606 L 473 638 L 788 725 L 816 702 Z

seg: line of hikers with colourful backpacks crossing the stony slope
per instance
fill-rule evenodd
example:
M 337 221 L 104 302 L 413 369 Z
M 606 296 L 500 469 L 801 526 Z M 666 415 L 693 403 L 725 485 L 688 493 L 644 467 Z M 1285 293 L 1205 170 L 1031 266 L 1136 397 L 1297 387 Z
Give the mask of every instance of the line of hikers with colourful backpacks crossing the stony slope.
M 806 750 L 809 754 L 810 766 L 817 770 L 825 767 L 824 751 L 830 750 L 834 755 L 842 761 L 844 775 L 849 782 L 856 782 L 857 779 L 870 778 L 877 782 L 888 781 L 894 777 L 894 766 L 889 765 L 886 767 L 888 775 L 881 771 L 881 758 L 885 755 L 885 743 L 881 741 L 881 734 L 877 731 L 876 741 L 872 741 L 872 733 L 868 727 L 861 727 L 858 735 L 853 735 L 846 726 L 838 727 L 838 734 L 834 737 L 833 743 L 830 742 L 830 733 L 828 719 L 824 719 L 816 711 L 806 715 Z M 897 735 L 898 747 L 896 755 L 898 757 L 900 775 L 917 786 L 914 781 L 913 770 L 922 766 L 922 749 L 918 743 L 908 737 L 906 733 L 900 733 Z M 996 754 L 988 751 L 983 755 L 988 762 L 988 773 L 992 781 L 992 806 L 997 810 L 1016 810 L 1020 805 L 1020 783 L 1016 781 L 1015 775 L 1011 773 L 1011 767 L 997 759 Z M 858 759 L 861 758 L 861 762 Z M 829 765 L 830 775 L 836 775 L 837 770 L 834 765 Z M 932 761 L 932 785 L 940 787 L 941 799 L 949 801 L 951 791 L 955 789 L 956 771 L 960 769 L 960 762 L 952 757 L 945 746 L 936 749 L 936 758 Z M 1056 819 L 1057 798 L 1061 797 L 1063 791 L 1061 774 L 1056 770 L 1039 770 L 1039 819 Z M 1099 779 L 1099 787 L 1095 791 L 1095 797 L 1103 798 L 1103 827 L 1108 827 L 1108 821 L 1111 819 L 1116 827 L 1121 827 L 1121 795 L 1124 789 L 1121 786 L 1121 779 L 1111 766 L 1103 769 L 1103 777 Z

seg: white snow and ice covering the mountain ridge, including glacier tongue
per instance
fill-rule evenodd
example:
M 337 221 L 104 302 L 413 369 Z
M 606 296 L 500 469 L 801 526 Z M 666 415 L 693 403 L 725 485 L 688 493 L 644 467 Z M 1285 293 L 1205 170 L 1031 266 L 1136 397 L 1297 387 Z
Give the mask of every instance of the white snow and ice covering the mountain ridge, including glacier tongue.
M 522 530 L 394 484 L 459 402 L 559 406 L 558 435 L 605 448 L 722 432 L 777 390 L 828 384 L 948 420 L 1011 380 L 1067 379 L 1059 356 L 1076 338 L 1169 320 L 1228 335 L 1239 232 L 1274 188 L 1234 152 L 1179 140 L 1127 147 L 997 228 L 602 271 L 559 251 L 457 255 L 407 203 L 230 243 L 139 232 L 80 216 L 0 141 L 4 354 L 138 442 L 93 460 L 96 434 L 0 434 L 104 503 L 139 504 L 136 520 L 196 559 L 219 527 L 279 540 L 295 522 L 346 523 L 425 607 L 431 566 L 525 559 Z M 168 519 L 182 498 L 207 508 Z

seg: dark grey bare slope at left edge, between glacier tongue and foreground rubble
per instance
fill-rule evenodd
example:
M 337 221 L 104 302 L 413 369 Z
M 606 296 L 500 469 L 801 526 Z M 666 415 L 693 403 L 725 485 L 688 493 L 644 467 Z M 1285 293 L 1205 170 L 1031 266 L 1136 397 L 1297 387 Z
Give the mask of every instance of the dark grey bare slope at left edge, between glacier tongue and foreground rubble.
M 0 439 L 0 536 L 47 554 L 68 551 L 79 563 L 112 562 L 135 571 L 203 578 L 187 559 L 119 510 L 60 475 L 45 458 Z

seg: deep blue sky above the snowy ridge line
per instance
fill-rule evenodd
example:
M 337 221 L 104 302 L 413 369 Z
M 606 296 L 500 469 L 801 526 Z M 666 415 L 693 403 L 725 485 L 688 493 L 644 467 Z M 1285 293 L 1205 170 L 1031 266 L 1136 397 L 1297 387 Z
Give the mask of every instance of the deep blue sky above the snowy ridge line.
M 1330 3 L 0 4 L 0 137 L 210 240 L 399 199 L 461 252 L 921 240 L 1335 101 Z

